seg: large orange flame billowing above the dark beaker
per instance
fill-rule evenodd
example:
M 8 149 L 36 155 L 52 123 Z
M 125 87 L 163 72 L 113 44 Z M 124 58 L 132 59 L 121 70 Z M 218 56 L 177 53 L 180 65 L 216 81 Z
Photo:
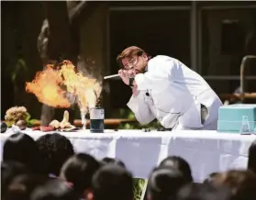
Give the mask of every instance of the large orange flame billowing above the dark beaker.
M 66 86 L 65 90 L 61 89 L 62 85 Z M 69 92 L 77 96 L 77 103 L 85 112 L 88 106 L 96 105 L 101 87 L 95 79 L 75 72 L 71 61 L 64 61 L 58 70 L 48 65 L 44 71 L 38 72 L 32 83 L 26 83 L 26 91 L 35 94 L 39 102 L 53 107 L 70 107 L 70 102 L 64 97 Z

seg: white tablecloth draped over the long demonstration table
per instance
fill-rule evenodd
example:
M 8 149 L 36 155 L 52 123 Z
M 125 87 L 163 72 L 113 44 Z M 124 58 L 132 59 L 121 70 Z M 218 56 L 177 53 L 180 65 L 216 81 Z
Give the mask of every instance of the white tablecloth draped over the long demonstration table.
M 40 131 L 27 132 L 34 139 L 44 135 Z M 203 181 L 210 172 L 246 168 L 248 149 L 255 135 L 217 133 L 208 130 L 151 131 L 106 130 L 61 133 L 71 139 L 77 152 L 87 152 L 97 159 L 118 158 L 124 161 L 134 176 L 148 178 L 150 171 L 168 155 L 182 156 L 191 165 L 196 182 Z M 3 142 L 1 134 L 1 161 Z

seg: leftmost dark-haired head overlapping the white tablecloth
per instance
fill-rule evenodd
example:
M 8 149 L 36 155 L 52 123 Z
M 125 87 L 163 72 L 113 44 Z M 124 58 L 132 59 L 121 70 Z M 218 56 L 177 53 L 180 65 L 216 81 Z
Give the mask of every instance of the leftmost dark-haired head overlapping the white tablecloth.
M 39 150 L 34 139 L 21 132 L 11 135 L 3 147 L 3 161 L 18 161 L 39 172 Z

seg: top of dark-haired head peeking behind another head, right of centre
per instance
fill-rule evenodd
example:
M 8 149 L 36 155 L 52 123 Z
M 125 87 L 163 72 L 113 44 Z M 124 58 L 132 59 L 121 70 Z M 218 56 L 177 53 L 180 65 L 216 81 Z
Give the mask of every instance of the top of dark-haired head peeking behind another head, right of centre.
M 192 172 L 189 163 L 180 156 L 169 156 L 161 161 L 160 166 L 174 167 L 184 173 L 184 177 L 188 182 L 193 182 Z

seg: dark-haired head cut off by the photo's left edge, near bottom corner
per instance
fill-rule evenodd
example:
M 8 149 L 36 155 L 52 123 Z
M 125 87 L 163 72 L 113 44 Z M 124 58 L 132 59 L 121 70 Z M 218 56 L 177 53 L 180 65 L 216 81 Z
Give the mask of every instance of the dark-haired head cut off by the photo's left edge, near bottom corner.
M 9 183 L 13 181 L 17 175 L 30 174 L 28 167 L 17 161 L 2 161 L 1 163 L 1 199 L 6 195 Z

